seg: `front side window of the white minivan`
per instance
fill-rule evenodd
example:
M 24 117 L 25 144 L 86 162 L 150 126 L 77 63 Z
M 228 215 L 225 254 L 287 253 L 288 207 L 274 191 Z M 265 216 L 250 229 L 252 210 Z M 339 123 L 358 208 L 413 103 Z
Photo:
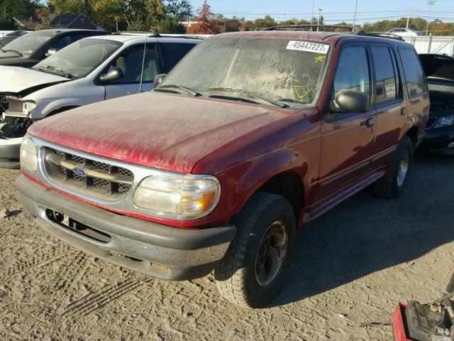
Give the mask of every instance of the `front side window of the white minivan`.
M 114 83 L 138 83 L 142 71 L 143 44 L 134 45 L 121 53 L 110 67 L 118 67 L 123 71 L 123 78 L 114 80 Z M 159 71 L 158 58 L 154 44 L 148 44 L 145 49 L 145 63 L 143 64 L 143 82 L 153 82 Z

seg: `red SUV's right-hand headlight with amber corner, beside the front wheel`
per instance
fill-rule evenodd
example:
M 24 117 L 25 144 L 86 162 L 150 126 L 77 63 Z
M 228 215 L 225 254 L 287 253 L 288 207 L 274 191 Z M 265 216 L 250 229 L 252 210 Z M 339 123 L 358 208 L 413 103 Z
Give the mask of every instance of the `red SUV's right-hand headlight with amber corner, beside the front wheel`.
M 220 194 L 219 182 L 211 175 L 152 175 L 140 183 L 133 201 L 157 217 L 194 220 L 214 210 Z

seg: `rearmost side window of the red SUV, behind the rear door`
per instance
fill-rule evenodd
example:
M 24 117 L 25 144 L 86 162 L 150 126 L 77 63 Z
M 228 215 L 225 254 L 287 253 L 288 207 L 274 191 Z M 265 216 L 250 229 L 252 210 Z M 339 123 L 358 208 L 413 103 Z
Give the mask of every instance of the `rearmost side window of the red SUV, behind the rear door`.
M 419 96 L 419 94 L 427 92 L 426 76 L 416 52 L 409 48 L 399 48 L 399 53 L 404 67 L 406 90 L 409 97 Z

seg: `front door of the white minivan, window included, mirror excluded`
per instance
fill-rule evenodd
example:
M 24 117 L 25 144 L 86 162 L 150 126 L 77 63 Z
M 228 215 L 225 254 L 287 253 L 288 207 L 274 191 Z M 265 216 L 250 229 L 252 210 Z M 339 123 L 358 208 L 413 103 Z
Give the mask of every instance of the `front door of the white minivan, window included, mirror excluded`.
M 145 53 L 145 58 L 144 58 Z M 142 62 L 143 63 L 143 74 Z M 142 81 L 142 91 L 153 90 L 153 80 L 155 75 L 160 72 L 159 58 L 155 43 L 148 43 L 145 51 L 144 44 L 131 45 L 124 50 L 104 71 L 106 73 L 110 67 L 118 67 L 123 72 L 123 78 L 107 83 L 106 99 L 135 94 L 140 91 L 140 80 Z

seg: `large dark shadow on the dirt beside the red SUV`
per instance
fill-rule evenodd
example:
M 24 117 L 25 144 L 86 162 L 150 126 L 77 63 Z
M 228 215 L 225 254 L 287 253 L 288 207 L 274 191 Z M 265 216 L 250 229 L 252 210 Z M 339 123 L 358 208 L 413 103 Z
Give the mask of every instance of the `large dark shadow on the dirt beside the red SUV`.
M 454 158 L 416 156 L 406 193 L 363 191 L 299 231 L 287 282 L 271 306 L 331 290 L 454 240 Z

